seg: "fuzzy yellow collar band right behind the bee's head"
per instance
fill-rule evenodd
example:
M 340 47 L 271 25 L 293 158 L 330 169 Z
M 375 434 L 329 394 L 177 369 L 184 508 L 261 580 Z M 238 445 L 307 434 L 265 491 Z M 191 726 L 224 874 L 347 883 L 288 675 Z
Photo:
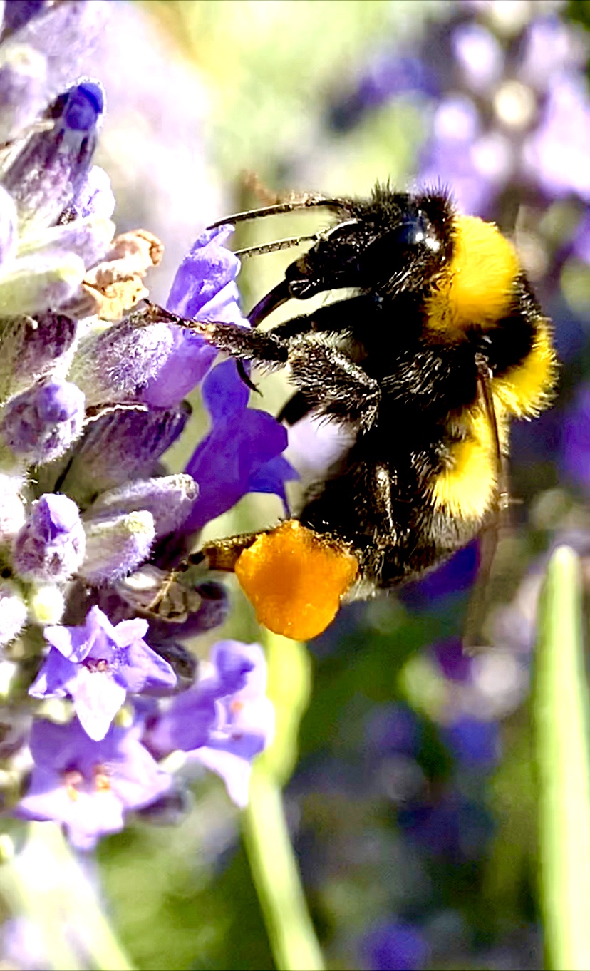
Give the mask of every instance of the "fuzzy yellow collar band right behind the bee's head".
M 449 340 L 469 324 L 504 317 L 520 272 L 514 247 L 493 222 L 459 216 L 453 236 L 453 255 L 427 301 L 428 329 Z

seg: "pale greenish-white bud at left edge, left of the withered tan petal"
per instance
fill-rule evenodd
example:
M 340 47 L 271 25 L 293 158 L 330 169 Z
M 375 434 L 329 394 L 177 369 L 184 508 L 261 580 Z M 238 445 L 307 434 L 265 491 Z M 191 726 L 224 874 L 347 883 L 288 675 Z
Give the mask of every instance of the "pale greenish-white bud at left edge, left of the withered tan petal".
M 0 277 L 0 315 L 55 310 L 82 284 L 85 267 L 74 253 L 22 256 Z

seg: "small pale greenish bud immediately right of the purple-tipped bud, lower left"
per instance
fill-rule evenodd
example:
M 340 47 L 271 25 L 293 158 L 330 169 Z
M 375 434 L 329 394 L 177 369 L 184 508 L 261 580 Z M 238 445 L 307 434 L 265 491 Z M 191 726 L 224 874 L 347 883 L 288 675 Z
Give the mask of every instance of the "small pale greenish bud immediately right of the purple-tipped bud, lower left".
M 80 574 L 89 584 L 110 584 L 148 558 L 155 536 L 151 513 L 141 511 L 84 523 L 86 555 Z

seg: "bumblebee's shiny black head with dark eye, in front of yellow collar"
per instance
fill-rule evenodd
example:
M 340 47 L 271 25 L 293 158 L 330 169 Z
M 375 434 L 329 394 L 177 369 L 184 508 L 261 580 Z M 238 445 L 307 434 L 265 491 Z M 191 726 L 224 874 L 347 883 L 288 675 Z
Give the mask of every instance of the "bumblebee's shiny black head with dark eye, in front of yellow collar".
M 451 230 L 452 211 L 444 196 L 377 187 L 371 200 L 352 204 L 347 218 L 287 267 L 289 293 L 305 300 L 338 287 L 392 296 L 424 290 L 450 256 Z

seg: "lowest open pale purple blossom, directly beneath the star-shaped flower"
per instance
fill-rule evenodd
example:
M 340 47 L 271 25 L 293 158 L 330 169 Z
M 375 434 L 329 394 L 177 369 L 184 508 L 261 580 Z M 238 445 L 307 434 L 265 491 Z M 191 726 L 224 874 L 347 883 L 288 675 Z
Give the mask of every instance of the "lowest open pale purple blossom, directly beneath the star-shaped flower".
M 94 742 L 77 719 L 34 722 L 30 749 L 35 765 L 16 814 L 60 822 L 74 846 L 92 850 L 100 836 L 123 828 L 127 810 L 148 806 L 171 785 L 140 734 L 140 725 L 112 727 Z

